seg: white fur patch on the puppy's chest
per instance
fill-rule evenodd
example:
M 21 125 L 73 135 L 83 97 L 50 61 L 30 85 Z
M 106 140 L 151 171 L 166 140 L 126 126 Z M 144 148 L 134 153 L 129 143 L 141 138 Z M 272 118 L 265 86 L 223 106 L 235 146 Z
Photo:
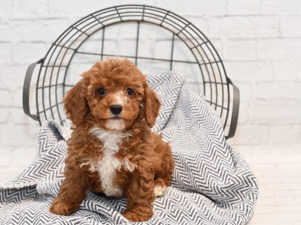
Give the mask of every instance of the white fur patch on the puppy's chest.
M 119 144 L 122 138 L 130 136 L 130 133 L 121 130 L 104 130 L 99 127 L 90 129 L 93 136 L 97 137 L 103 143 L 101 151 L 103 157 L 98 162 L 91 163 L 92 170 L 97 170 L 100 178 L 103 192 L 108 196 L 121 196 L 122 190 L 113 185 L 116 170 L 120 169 L 122 164 L 114 156 L 119 150 Z

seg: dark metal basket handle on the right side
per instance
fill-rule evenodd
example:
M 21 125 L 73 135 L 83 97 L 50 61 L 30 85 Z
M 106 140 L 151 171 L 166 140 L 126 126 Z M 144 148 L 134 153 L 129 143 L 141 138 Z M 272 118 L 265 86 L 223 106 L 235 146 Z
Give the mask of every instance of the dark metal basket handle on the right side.
M 233 87 L 232 115 L 231 115 L 229 132 L 228 135 L 226 136 L 226 139 L 229 139 L 234 136 L 237 127 L 240 93 L 238 87 L 232 82 L 232 80 L 229 77 L 227 77 L 227 81 Z

